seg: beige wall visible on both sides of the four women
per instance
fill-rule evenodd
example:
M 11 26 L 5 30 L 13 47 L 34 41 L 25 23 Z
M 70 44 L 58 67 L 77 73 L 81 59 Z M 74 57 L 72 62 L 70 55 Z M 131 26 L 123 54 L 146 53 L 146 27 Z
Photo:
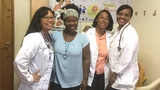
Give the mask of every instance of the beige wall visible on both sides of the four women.
M 23 4 L 22 4 L 23 3 Z M 134 11 L 138 16 L 133 15 L 131 24 L 136 28 L 140 38 L 139 62 L 145 69 L 147 80 L 145 85 L 160 78 L 160 11 L 158 9 L 159 0 L 132 0 Z M 30 23 L 30 0 L 14 0 L 15 9 L 15 55 L 17 54 L 24 33 Z M 157 9 L 157 16 L 152 16 L 153 11 Z M 146 10 L 146 16 L 143 11 Z M 83 29 L 85 25 L 91 23 L 80 23 L 79 28 Z M 114 28 L 117 24 L 114 25 Z M 19 80 L 14 76 L 14 90 L 17 90 Z

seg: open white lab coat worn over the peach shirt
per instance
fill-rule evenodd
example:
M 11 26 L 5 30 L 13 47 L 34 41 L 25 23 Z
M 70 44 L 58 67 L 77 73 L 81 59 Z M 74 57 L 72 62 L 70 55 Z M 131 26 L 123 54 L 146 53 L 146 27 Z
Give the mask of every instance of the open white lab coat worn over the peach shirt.
M 91 52 L 91 63 L 90 63 L 90 73 L 88 77 L 88 86 L 92 85 L 94 75 L 95 75 L 95 69 L 96 69 L 96 62 L 98 58 L 98 47 L 97 47 L 97 41 L 96 41 L 96 30 L 95 28 L 90 28 L 85 34 L 89 38 L 90 42 L 90 52 Z M 110 35 L 108 31 L 106 31 L 106 47 L 109 49 L 110 45 Z M 109 67 L 108 67 L 108 62 L 105 64 L 104 67 L 104 83 L 105 83 L 105 88 L 108 85 L 108 75 L 109 75 Z

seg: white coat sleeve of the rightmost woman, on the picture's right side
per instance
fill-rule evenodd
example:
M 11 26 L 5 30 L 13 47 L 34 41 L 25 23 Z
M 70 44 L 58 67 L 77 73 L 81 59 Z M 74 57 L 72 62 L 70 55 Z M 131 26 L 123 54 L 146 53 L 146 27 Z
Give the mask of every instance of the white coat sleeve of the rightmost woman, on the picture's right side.
M 119 60 L 115 64 L 115 73 L 123 74 L 130 67 L 134 60 L 137 60 L 138 54 L 138 35 L 135 29 L 126 30 L 126 33 L 122 36 L 121 48 Z

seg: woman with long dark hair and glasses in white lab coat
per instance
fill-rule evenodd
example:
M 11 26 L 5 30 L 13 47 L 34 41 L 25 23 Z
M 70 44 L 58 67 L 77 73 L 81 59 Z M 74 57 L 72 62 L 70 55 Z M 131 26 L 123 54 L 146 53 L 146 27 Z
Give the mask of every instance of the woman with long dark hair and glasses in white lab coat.
M 35 12 L 14 61 L 15 73 L 21 81 L 18 90 L 48 90 L 54 67 L 53 42 L 48 31 L 54 23 L 50 8 L 41 7 Z

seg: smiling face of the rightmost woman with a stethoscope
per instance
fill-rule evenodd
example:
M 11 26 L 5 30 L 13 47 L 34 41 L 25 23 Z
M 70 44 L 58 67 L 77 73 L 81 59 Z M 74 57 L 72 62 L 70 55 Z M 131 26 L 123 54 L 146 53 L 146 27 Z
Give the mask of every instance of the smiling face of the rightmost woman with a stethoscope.
M 130 9 L 123 9 L 117 13 L 117 22 L 119 24 L 119 28 L 123 27 L 126 23 L 131 19 L 131 11 Z

